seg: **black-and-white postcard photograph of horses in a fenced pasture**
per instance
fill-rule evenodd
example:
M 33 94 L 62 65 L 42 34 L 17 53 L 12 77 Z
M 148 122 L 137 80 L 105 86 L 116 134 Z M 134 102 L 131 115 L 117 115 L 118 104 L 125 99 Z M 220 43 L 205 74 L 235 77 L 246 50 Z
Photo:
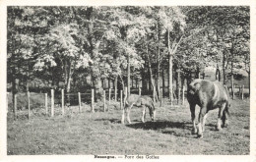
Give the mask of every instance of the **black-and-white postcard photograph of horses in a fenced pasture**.
M 251 6 L 5 8 L 5 156 L 251 155 Z

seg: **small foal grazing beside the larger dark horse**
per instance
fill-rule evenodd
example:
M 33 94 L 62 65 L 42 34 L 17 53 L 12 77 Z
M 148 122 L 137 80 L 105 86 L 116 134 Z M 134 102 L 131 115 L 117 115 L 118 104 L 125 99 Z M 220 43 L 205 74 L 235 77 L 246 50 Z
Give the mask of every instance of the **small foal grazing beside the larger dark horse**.
M 131 94 L 129 95 L 126 100 L 125 100 L 125 106 L 123 109 L 123 114 L 122 114 L 122 124 L 124 124 L 124 116 L 125 113 L 127 115 L 127 121 L 129 124 L 131 124 L 130 120 L 130 111 L 133 105 L 136 105 L 137 107 L 143 107 L 143 112 L 142 112 L 142 122 L 145 122 L 146 118 L 146 107 L 149 108 L 150 111 L 150 116 L 152 121 L 155 120 L 156 117 L 156 109 L 154 102 L 151 97 L 146 96 L 146 95 L 137 95 L 137 94 Z

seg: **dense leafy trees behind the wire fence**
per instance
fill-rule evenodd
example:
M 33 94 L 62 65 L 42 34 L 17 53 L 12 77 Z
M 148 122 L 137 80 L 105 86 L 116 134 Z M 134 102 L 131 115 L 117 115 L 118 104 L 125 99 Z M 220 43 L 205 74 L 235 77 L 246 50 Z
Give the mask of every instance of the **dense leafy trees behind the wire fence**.
M 219 65 L 226 83 L 239 70 L 250 75 L 249 12 L 243 6 L 8 7 L 8 82 L 13 92 L 87 85 L 100 94 L 102 80 L 129 90 L 133 79 L 158 91 L 168 86 L 172 96 L 172 79 L 180 86 Z

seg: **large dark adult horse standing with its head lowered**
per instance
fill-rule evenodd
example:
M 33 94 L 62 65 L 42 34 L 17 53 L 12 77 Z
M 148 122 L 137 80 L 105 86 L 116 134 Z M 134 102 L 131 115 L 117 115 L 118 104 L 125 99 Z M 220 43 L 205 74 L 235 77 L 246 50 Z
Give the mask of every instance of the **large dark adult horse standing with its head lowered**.
M 227 89 L 219 81 L 194 80 L 189 84 L 187 100 L 190 105 L 191 118 L 193 123 L 192 134 L 197 134 L 198 137 L 203 137 L 205 130 L 205 122 L 207 113 L 210 110 L 220 108 L 217 130 L 221 131 L 222 127 L 227 127 L 229 115 L 229 95 Z M 198 105 L 200 109 L 198 125 L 195 122 L 195 106 Z M 223 125 L 222 125 L 223 122 Z

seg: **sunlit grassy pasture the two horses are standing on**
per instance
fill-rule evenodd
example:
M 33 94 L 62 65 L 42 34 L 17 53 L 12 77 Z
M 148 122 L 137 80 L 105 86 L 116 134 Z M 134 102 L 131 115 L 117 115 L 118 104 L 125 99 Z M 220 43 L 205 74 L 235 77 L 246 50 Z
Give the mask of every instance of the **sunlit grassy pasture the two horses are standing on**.
M 26 112 L 14 121 L 7 119 L 8 155 L 34 154 L 249 154 L 249 100 L 231 103 L 229 127 L 215 131 L 218 111 L 209 113 L 204 138 L 191 135 L 192 124 L 188 105 L 170 107 L 166 102 L 158 108 L 157 121 L 140 122 L 141 110 L 131 112 L 131 125 L 121 125 L 121 111 L 110 107 L 108 112 L 82 113 L 77 107 L 67 110 L 64 117 L 45 117 L 41 110 L 27 120 Z M 198 111 L 198 109 L 197 109 Z M 58 111 L 56 111 L 58 113 Z M 146 119 L 149 121 L 147 112 Z

